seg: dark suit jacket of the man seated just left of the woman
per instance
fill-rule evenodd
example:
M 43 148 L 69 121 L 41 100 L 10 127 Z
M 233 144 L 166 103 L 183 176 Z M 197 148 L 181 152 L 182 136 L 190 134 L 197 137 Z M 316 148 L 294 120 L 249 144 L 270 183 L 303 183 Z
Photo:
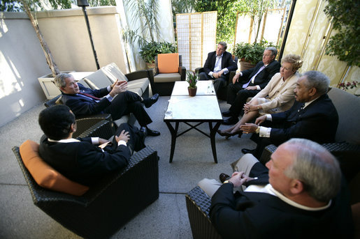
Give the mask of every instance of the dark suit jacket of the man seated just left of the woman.
M 259 71 L 259 69 L 264 65 L 262 61 L 259 61 L 254 68 L 250 68 L 242 71 L 243 75 L 239 79 L 240 84 L 246 84 L 250 81 L 250 79 Z M 264 70 L 261 70 L 259 74 L 254 79 L 254 83 L 250 82 L 249 86 L 257 86 L 259 85 L 261 89 L 265 88 L 265 86 L 270 81 L 271 77 L 276 73 L 280 72 L 280 63 L 278 61 L 272 61 Z

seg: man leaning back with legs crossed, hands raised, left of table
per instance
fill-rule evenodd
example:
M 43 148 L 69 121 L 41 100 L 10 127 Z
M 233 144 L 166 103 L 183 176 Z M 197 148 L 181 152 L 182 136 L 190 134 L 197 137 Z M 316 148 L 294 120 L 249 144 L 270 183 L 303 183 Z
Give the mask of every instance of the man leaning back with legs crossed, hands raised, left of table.
M 151 107 L 159 99 L 158 94 L 152 98 L 143 99 L 138 94 L 127 91 L 127 82 L 116 81 L 111 86 L 92 90 L 75 82 L 71 74 L 61 73 L 54 79 L 62 91 L 62 102 L 70 107 L 75 116 L 90 116 L 92 114 L 111 114 L 114 121 L 122 116 L 133 113 L 141 126 L 141 131 L 149 136 L 159 136 L 160 132 L 150 130 L 147 125 L 152 123 L 150 116 L 143 108 Z M 116 96 L 116 97 L 115 97 Z

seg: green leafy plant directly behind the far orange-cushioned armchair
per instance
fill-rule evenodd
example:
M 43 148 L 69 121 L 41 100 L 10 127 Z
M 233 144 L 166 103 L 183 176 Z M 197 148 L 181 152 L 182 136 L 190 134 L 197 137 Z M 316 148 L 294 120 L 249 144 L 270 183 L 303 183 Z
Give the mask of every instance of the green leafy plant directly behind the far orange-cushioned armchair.
M 157 43 L 150 42 L 141 47 L 141 51 L 139 52 L 141 59 L 143 59 L 146 63 L 154 63 L 155 56 L 157 54 L 164 53 L 175 53 L 176 47 L 173 43 Z

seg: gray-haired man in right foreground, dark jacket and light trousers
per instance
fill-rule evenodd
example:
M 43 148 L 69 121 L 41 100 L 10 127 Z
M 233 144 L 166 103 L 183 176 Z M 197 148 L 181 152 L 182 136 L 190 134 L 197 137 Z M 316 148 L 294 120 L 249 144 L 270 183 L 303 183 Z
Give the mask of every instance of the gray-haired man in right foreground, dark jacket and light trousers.
M 212 196 L 210 219 L 222 238 L 353 238 L 350 193 L 324 147 L 290 139 L 267 168 L 252 155 L 236 166 L 239 171 L 223 183 L 199 182 Z

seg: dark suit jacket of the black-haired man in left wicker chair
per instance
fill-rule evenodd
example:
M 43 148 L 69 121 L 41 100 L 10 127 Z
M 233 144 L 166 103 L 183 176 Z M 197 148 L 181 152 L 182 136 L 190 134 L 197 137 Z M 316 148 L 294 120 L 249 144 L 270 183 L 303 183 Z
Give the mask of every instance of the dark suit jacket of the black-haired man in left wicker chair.
M 120 145 L 115 151 L 101 151 L 92 145 L 91 138 L 78 138 L 79 142 L 58 143 L 41 137 L 39 154 L 54 169 L 75 182 L 94 185 L 115 169 L 125 167 L 131 152 Z

